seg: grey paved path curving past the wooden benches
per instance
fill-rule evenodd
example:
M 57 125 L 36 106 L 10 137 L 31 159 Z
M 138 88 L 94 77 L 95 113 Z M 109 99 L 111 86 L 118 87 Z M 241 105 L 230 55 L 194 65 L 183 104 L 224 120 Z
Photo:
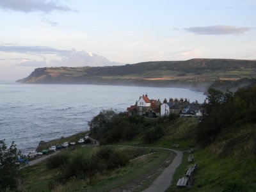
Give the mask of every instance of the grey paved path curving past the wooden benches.
M 113 145 L 112 145 L 113 146 Z M 114 145 L 116 146 L 116 145 Z M 126 145 L 118 145 L 122 147 L 135 147 L 135 146 L 126 146 Z M 179 150 L 174 150 L 170 148 L 159 148 L 159 147 L 145 147 L 145 148 L 155 148 L 155 149 L 163 149 L 163 150 L 169 150 L 172 152 L 175 152 L 177 154 L 172 163 L 165 168 L 165 170 L 157 177 L 156 180 L 143 192 L 164 192 L 166 189 L 168 189 L 172 184 L 172 178 L 173 174 L 175 173 L 177 167 L 180 165 L 182 161 L 183 152 Z

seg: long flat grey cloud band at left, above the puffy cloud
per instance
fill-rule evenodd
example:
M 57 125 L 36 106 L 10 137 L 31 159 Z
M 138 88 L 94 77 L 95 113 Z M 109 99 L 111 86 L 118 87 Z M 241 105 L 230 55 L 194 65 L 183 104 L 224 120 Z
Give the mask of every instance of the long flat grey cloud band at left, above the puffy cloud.
M 45 46 L 5 46 L 0 45 L 1 52 L 39 53 L 39 54 L 61 54 L 70 52 Z

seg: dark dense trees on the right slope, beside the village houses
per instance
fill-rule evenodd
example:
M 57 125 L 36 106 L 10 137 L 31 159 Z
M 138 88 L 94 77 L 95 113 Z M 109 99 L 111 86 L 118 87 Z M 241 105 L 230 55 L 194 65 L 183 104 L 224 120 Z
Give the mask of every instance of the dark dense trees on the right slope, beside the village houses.
M 230 127 L 255 123 L 256 119 L 256 86 L 241 88 L 236 93 L 221 93 L 209 90 L 209 103 L 205 105 L 205 114 L 198 126 L 198 141 L 209 145 Z

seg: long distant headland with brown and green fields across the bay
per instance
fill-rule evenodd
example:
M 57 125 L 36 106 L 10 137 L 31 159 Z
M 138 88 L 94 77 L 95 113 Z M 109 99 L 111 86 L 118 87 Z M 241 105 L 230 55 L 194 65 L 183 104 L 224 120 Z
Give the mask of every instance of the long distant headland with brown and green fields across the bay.
M 205 90 L 214 81 L 256 77 L 256 60 L 192 59 L 108 67 L 36 68 L 20 83 L 128 84 Z

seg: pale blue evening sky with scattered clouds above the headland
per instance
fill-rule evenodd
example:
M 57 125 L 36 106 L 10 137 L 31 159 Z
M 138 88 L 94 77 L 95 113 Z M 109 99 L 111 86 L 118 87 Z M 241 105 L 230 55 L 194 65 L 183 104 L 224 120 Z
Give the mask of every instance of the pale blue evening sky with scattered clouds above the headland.
M 38 67 L 256 59 L 256 0 L 0 0 L 0 80 Z

